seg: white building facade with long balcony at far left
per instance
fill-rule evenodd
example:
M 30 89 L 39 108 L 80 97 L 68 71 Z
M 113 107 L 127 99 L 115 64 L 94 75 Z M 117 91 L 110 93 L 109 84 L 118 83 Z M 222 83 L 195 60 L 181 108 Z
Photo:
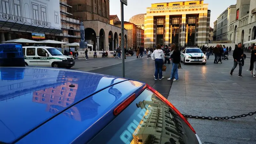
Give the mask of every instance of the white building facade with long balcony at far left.
M 46 39 L 60 34 L 60 3 L 45 0 L 0 0 L 0 41 Z M 36 36 L 37 34 L 40 37 Z M 33 37 L 34 36 L 34 37 Z

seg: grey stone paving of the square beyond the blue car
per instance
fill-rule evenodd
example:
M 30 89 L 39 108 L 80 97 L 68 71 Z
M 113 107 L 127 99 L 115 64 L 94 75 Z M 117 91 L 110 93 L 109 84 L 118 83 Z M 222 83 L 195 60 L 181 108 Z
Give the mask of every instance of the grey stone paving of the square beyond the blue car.
M 168 100 L 183 114 L 214 117 L 234 116 L 256 111 L 256 78 L 253 78 L 247 71 L 250 59 L 246 59 L 243 67 L 244 78 L 239 78 L 238 68 L 233 76 L 229 75 L 233 66 L 232 55 L 229 57 L 230 59 L 223 60 L 222 64 L 213 64 L 213 56 L 206 65 L 181 64 L 180 81 L 173 83 L 166 80 L 170 76 L 171 65 L 167 65 L 167 70 L 163 73 L 165 78 L 162 81 L 155 81 L 153 78 L 154 61 L 146 58 L 127 59 L 125 73 L 127 78 L 143 81 L 153 86 L 168 97 Z M 84 68 L 82 64 L 76 66 L 75 69 L 90 70 L 91 67 L 102 67 L 91 70 L 91 72 L 122 76 L 121 60 L 116 61 L 118 60 L 109 59 L 108 62 L 108 59 L 99 59 L 95 60 L 96 63 L 90 63 L 88 68 Z M 111 64 L 113 65 L 108 66 Z M 254 115 L 218 121 L 188 118 L 188 121 L 203 144 L 256 144 L 255 117 Z

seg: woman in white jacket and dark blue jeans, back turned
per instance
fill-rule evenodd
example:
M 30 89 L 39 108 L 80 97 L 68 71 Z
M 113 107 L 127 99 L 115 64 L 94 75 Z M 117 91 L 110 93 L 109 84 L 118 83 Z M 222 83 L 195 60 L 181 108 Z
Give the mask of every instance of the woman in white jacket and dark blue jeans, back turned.
M 156 71 L 155 71 L 155 80 L 158 79 L 158 74 L 159 74 L 159 80 L 162 80 L 164 78 L 163 74 L 162 74 L 162 67 L 164 65 L 164 52 L 161 49 L 161 45 L 157 44 L 156 46 L 156 50 L 152 53 L 151 55 L 151 59 L 155 60 L 155 67 L 156 67 Z

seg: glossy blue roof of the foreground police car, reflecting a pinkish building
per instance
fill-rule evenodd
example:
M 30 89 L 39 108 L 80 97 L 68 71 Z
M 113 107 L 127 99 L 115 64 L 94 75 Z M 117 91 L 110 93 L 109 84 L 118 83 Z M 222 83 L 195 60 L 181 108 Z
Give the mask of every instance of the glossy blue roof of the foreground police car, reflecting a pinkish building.
M 35 67 L 1 67 L 0 78 L 0 143 L 69 143 L 99 119 L 114 117 L 110 110 L 145 85 L 115 76 Z

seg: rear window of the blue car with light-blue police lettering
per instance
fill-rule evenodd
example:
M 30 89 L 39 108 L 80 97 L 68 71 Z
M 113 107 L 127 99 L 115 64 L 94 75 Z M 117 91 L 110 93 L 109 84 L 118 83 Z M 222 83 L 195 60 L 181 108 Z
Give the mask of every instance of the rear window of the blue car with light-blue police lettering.
M 198 144 L 195 133 L 168 105 L 145 89 L 90 142 Z

